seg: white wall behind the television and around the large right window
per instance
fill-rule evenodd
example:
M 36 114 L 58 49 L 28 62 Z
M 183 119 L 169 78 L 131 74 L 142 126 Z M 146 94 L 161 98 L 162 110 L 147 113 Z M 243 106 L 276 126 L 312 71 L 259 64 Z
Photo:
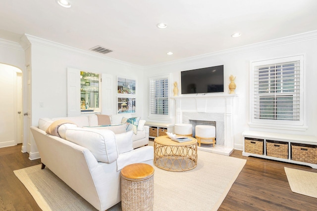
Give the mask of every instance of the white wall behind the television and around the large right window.
M 174 81 L 180 86 L 180 72 L 196 68 L 204 68 L 210 66 L 224 65 L 224 86 L 225 93 L 229 93 L 228 85 L 230 83 L 229 76 L 236 76 L 235 83 L 237 88 L 235 92 L 238 94 L 236 100 L 235 117 L 234 117 L 234 139 L 235 148 L 242 149 L 244 130 L 262 130 L 290 134 L 317 135 L 317 98 L 315 84 L 317 80 L 317 31 L 301 34 L 297 36 L 287 37 L 279 40 L 257 43 L 235 49 L 228 49 L 221 52 L 206 54 L 187 58 L 175 62 L 160 64 L 146 68 L 146 76 L 154 76 L 158 74 L 172 73 L 171 80 L 171 96 Z M 291 55 L 304 54 L 305 66 L 305 99 L 304 114 L 306 126 L 305 131 L 294 130 L 276 130 L 263 128 L 250 128 L 249 123 L 249 66 L 250 61 L 279 58 Z M 146 88 L 146 87 L 144 87 Z M 180 87 L 179 87 L 180 89 Z M 148 94 L 145 96 L 144 107 L 147 106 Z M 174 100 L 172 99 L 171 102 Z M 196 105 L 192 104 L 192 108 Z M 186 105 L 190 107 L 190 105 Z M 148 114 L 145 109 L 144 115 Z M 172 121 L 175 122 L 175 111 L 172 110 Z M 153 121 L 153 120 L 152 120 Z

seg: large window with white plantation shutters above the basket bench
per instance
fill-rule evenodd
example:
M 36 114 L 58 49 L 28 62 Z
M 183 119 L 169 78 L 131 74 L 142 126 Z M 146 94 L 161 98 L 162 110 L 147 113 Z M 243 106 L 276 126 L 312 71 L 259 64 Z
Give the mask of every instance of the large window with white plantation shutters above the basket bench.
M 303 125 L 303 56 L 252 63 L 253 123 Z

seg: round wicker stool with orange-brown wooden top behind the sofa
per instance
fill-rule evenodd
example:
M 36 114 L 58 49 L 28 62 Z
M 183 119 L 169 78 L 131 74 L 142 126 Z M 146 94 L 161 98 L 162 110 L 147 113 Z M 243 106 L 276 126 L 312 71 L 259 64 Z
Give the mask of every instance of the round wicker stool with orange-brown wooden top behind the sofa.
M 154 168 L 130 164 L 121 170 L 122 211 L 153 211 Z

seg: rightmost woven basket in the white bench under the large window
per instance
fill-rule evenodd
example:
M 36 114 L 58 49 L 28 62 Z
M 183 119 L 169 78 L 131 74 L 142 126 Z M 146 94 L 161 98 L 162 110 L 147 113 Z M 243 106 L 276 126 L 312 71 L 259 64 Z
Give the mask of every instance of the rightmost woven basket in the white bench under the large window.
M 292 160 L 317 164 L 317 146 L 292 143 Z

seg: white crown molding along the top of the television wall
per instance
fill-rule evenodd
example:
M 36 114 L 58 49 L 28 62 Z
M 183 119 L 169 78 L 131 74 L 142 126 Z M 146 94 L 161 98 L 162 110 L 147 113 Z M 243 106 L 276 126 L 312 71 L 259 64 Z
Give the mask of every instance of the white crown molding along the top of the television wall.
M 288 36 L 284 38 L 274 39 L 270 41 L 258 42 L 258 43 L 253 43 L 249 45 L 244 45 L 241 47 L 235 47 L 235 48 L 225 49 L 225 50 L 216 51 L 212 53 L 206 53 L 206 54 L 202 54 L 198 56 L 187 57 L 184 59 L 179 59 L 179 60 L 175 60 L 171 62 L 151 65 L 151 66 L 145 67 L 145 69 L 149 70 L 152 68 L 162 68 L 162 67 L 170 66 L 170 65 L 188 64 L 188 63 L 199 62 L 199 61 L 203 61 L 207 59 L 213 59 L 213 58 L 217 58 L 221 56 L 241 54 L 245 52 L 256 51 L 256 50 L 261 50 L 265 48 L 271 48 L 271 47 L 297 43 L 297 42 L 305 42 L 305 41 L 316 40 L 316 39 L 317 39 L 317 30 L 302 33 L 302 34 L 292 35 L 292 36 Z

